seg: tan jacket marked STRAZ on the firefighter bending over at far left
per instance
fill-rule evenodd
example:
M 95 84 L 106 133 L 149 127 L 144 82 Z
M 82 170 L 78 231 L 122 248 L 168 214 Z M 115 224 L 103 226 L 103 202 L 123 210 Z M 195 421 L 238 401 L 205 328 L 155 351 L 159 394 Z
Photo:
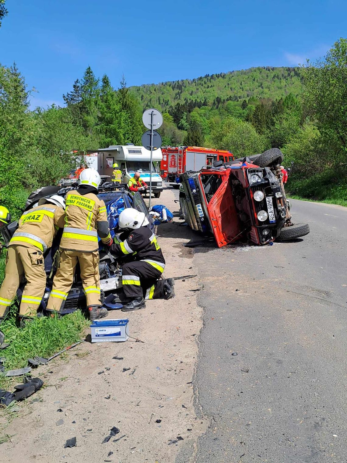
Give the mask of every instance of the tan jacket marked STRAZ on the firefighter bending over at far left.
M 56 228 L 64 226 L 64 215 L 62 207 L 54 204 L 33 207 L 22 214 L 9 245 L 21 244 L 44 252 L 52 246 Z

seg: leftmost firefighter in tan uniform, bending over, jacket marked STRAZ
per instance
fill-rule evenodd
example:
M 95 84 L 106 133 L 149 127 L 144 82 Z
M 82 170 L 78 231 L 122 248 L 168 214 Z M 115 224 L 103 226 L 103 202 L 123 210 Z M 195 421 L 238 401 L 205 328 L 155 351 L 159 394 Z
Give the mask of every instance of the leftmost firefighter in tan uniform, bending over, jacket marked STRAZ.
M 43 254 L 52 246 L 56 230 L 64 226 L 65 202 L 61 196 L 42 198 L 19 219 L 8 245 L 5 278 L 0 288 L 0 321 L 6 316 L 20 282 L 26 285 L 19 307 L 21 319 L 34 317 L 46 288 Z

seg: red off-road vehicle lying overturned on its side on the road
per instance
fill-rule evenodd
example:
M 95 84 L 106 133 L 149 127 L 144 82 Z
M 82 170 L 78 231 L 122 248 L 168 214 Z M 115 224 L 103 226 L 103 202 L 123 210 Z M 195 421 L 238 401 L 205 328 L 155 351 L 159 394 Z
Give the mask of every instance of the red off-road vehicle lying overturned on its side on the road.
M 181 174 L 180 206 L 186 222 L 193 230 L 213 233 L 218 247 L 242 238 L 268 244 L 307 235 L 309 225 L 291 222 L 282 161 L 282 152 L 272 148 Z

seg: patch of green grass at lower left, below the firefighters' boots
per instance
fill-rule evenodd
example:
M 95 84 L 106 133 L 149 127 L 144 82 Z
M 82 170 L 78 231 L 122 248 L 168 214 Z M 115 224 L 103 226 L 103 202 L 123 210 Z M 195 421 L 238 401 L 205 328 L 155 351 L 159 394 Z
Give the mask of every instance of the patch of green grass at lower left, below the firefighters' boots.
M 13 310 L 13 309 L 12 309 Z M 0 329 L 5 334 L 5 342 L 10 345 L 1 351 L 5 357 L 5 370 L 19 369 L 28 365 L 28 358 L 50 357 L 59 350 L 81 340 L 86 328 L 90 325 L 80 310 L 58 317 L 40 317 L 27 323 L 24 328 L 16 325 L 13 311 L 1 324 Z M 35 375 L 35 370 L 31 372 Z M 21 378 L 7 378 L 0 375 L 0 388 L 9 390 L 14 381 Z

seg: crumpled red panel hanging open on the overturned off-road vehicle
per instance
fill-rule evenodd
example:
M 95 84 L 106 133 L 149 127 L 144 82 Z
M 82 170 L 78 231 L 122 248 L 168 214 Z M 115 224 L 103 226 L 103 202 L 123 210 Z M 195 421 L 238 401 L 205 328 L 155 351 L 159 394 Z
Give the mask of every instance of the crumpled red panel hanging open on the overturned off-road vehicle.
M 218 248 L 235 241 L 240 236 L 240 223 L 229 175 L 223 176 L 222 184 L 209 202 L 207 211 Z

